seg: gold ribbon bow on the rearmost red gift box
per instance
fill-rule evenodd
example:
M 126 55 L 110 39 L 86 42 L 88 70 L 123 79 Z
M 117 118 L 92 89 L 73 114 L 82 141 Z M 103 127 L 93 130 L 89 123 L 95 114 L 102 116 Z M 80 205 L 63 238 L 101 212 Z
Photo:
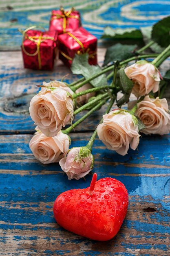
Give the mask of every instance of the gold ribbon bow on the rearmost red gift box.
M 71 15 L 72 11 L 74 11 L 74 7 L 71 8 L 71 10 L 69 11 L 64 11 L 64 8 L 61 7 L 60 8 L 60 11 L 62 12 L 62 14 L 59 14 L 59 13 L 56 13 L 56 14 L 52 14 L 52 17 L 51 20 L 56 20 L 56 19 L 61 19 L 63 18 L 63 32 L 65 33 L 66 32 L 66 22 L 67 22 L 67 18 L 73 18 L 73 19 L 78 19 L 79 20 L 79 17 L 78 16 L 75 16 L 75 15 Z

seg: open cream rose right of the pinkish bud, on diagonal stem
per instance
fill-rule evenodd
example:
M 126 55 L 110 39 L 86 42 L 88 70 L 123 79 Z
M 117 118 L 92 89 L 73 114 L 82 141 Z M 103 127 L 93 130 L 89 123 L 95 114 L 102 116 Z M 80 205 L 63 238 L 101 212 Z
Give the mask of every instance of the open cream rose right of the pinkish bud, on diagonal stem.
M 126 155 L 139 144 L 137 118 L 124 110 L 113 110 L 103 116 L 103 123 L 97 126 L 99 139 L 110 150 Z

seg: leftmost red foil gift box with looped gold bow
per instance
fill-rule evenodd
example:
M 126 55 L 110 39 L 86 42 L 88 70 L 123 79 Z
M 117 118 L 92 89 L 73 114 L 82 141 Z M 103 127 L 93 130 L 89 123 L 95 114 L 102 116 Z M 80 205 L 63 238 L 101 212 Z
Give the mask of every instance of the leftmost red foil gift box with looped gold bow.
M 56 56 L 56 32 L 26 29 L 22 34 L 24 67 L 33 70 L 52 70 Z

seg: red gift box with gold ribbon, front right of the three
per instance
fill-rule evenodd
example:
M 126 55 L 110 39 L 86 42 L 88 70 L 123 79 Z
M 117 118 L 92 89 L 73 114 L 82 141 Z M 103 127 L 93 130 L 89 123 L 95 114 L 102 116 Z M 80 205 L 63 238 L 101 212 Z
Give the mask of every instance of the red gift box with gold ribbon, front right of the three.
M 57 45 L 59 58 L 66 66 L 71 66 L 75 54 L 84 53 L 88 53 L 90 65 L 97 65 L 97 38 L 83 27 L 59 35 Z

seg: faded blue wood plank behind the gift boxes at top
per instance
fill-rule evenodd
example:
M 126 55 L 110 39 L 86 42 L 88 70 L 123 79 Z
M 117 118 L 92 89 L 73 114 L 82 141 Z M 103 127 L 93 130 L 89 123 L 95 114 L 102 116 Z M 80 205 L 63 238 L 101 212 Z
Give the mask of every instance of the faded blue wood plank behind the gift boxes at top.
M 51 11 L 60 8 L 61 2 L 1 1 L 0 2 L 0 49 L 19 49 L 22 36 L 18 27 L 26 29 L 37 25 L 48 29 Z M 144 0 L 73 0 L 62 1 L 62 6 L 70 9 L 75 6 L 82 16 L 82 24 L 99 39 L 104 27 L 126 29 L 152 26 L 157 20 L 168 16 L 168 1 L 147 2 Z

